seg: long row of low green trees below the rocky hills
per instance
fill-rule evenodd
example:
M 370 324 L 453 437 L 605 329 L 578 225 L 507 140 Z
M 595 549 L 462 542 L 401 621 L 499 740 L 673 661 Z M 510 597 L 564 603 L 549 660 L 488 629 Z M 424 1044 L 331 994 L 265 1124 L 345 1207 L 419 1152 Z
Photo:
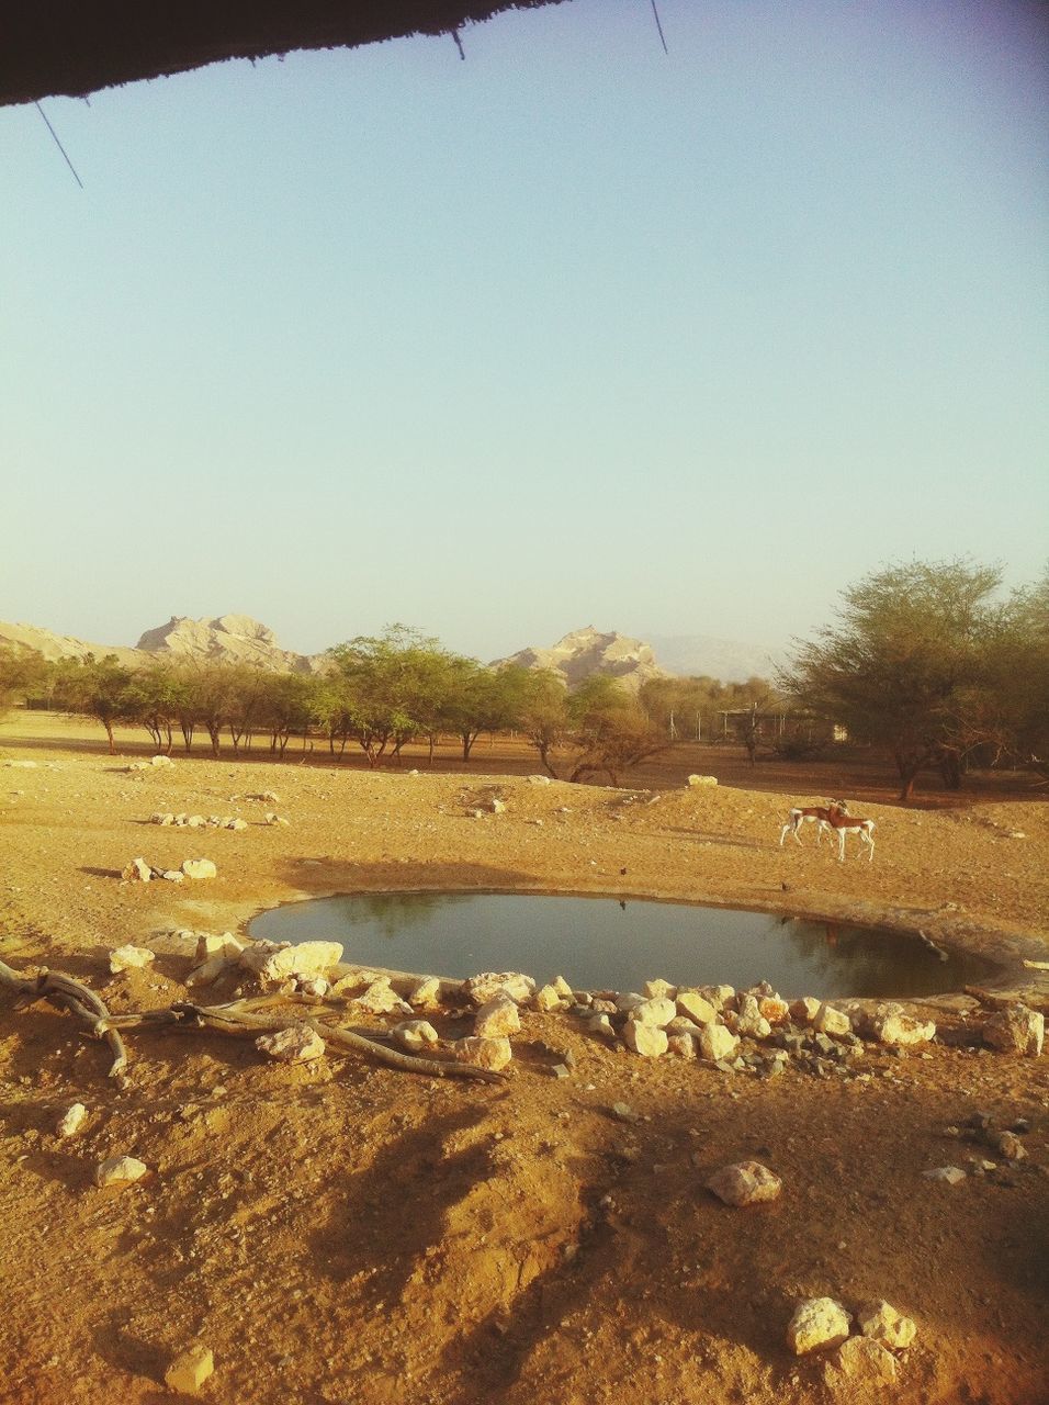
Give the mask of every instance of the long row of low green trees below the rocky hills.
M 619 776 L 667 746 L 638 700 L 611 679 L 574 690 L 559 674 L 489 669 L 404 625 L 329 651 L 322 673 L 274 673 L 246 663 L 166 659 L 129 669 L 115 656 L 46 663 L 0 651 L 0 707 L 15 698 L 95 718 L 115 752 L 115 728 L 140 725 L 159 752 L 201 740 L 212 756 L 257 740 L 282 757 L 292 740 L 333 756 L 359 749 L 371 767 L 399 760 L 409 742 L 455 736 L 462 759 L 482 732 L 514 731 L 553 777 Z

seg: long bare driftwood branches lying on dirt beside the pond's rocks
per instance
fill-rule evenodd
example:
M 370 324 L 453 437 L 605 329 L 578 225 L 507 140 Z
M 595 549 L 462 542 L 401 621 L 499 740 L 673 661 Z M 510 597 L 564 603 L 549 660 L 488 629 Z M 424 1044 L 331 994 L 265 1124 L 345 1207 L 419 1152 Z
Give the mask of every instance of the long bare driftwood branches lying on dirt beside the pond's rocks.
M 15 992 L 15 1009 L 24 1009 L 37 1000 L 48 1000 L 69 1013 L 84 1026 L 84 1033 L 104 1038 L 114 1052 L 110 1078 L 124 1078 L 128 1051 L 121 1038 L 121 1030 L 215 1030 L 240 1038 L 257 1038 L 261 1033 L 284 1030 L 291 1024 L 308 1024 L 329 1045 L 340 1051 L 367 1054 L 379 1064 L 399 1068 L 409 1073 L 425 1073 L 430 1078 L 472 1078 L 484 1083 L 500 1083 L 506 1073 L 476 1068 L 472 1064 L 452 1064 L 444 1059 L 416 1058 L 399 1050 L 386 1048 L 375 1040 L 365 1038 L 336 1023 L 344 1013 L 343 1005 L 317 1000 L 309 996 L 265 995 L 254 999 L 232 1000 L 227 1005 L 192 1005 L 177 1000 L 159 1010 L 140 1010 L 129 1014 L 111 1014 L 105 1003 L 80 981 L 62 971 L 44 969 L 37 976 L 22 976 L 0 961 L 0 988 Z M 301 1010 L 278 1013 L 278 1006 L 299 1005 L 322 1013 L 303 1014 Z M 270 1013 L 261 1013 L 261 1012 Z

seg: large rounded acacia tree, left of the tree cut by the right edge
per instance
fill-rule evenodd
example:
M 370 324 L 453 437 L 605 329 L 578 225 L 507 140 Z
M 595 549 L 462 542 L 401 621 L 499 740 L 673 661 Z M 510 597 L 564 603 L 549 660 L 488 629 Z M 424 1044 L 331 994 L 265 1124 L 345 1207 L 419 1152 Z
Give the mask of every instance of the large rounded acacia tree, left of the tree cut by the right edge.
M 968 561 L 875 572 L 843 592 L 838 622 L 800 645 L 779 683 L 851 736 L 888 746 L 902 801 L 927 766 L 956 785 L 965 757 L 987 739 L 1000 579 Z

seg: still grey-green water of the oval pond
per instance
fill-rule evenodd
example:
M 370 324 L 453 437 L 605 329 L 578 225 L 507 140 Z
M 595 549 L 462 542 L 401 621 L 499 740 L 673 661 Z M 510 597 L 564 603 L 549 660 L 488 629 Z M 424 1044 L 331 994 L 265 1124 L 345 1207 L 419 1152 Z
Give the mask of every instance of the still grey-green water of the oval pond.
M 764 912 L 618 898 L 497 892 L 354 894 L 288 903 L 249 932 L 270 941 L 341 941 L 344 960 L 465 978 L 524 971 L 541 984 L 636 991 L 770 981 L 802 995 L 920 996 L 958 991 L 993 969 L 980 957 L 946 960 L 917 937 Z

